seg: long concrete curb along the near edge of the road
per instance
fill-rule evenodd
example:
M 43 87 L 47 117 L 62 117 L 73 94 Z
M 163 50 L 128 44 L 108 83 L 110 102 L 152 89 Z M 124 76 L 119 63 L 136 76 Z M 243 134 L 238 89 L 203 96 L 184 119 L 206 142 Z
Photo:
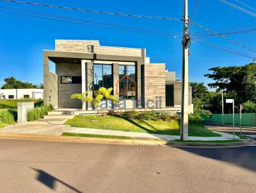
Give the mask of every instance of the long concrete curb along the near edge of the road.
M 95 137 L 70 137 L 54 135 L 37 135 L 37 134 L 13 134 L 0 133 L 0 139 L 24 139 L 38 141 L 59 141 L 72 143 L 100 143 L 100 144 L 127 144 L 127 145 L 145 145 L 145 146 L 193 146 L 193 147 L 232 147 L 245 146 L 250 143 L 249 139 L 244 139 L 236 143 L 179 143 L 172 141 L 154 141 L 147 139 L 106 139 Z

